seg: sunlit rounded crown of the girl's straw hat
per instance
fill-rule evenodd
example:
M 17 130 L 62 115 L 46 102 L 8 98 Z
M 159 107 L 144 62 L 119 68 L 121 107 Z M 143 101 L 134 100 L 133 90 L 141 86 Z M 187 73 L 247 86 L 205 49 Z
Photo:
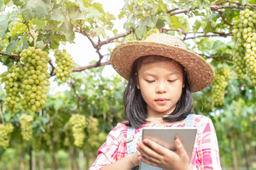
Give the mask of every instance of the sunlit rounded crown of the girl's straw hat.
M 158 42 L 166 45 L 171 45 L 173 47 L 179 47 L 186 50 L 186 45 L 173 35 L 168 35 L 164 33 L 153 33 L 149 35 L 144 41 L 146 42 Z

